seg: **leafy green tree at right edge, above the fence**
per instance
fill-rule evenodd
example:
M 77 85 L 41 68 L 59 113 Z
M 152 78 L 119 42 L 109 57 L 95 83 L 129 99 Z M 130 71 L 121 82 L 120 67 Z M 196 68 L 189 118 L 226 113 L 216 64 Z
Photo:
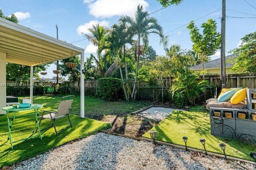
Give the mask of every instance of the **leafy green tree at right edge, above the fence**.
M 249 33 L 241 39 L 241 45 L 232 49 L 229 53 L 237 54 L 227 62 L 234 63 L 231 70 L 237 73 L 255 73 L 256 72 L 256 32 Z

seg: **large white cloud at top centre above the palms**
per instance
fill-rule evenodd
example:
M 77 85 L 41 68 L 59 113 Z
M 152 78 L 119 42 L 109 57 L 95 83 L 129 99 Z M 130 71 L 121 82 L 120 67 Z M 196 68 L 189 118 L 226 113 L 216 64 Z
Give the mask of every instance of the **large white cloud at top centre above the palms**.
M 134 16 L 137 6 L 145 8 L 148 2 L 145 0 L 84 0 L 88 2 L 89 13 L 96 18 L 111 18 L 112 16 Z

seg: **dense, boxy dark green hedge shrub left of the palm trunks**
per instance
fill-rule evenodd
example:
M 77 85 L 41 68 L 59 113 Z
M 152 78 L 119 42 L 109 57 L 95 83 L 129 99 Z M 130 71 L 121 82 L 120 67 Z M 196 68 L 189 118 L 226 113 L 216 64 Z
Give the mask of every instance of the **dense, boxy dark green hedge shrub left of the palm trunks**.
M 119 78 L 100 78 L 97 86 L 98 96 L 114 101 L 123 98 L 122 81 Z

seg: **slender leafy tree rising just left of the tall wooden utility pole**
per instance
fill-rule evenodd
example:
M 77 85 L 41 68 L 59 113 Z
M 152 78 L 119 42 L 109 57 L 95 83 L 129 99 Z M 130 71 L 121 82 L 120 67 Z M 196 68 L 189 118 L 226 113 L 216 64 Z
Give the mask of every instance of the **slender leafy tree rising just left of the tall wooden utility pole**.
M 192 50 L 198 54 L 204 70 L 204 63 L 220 49 L 220 33 L 217 32 L 217 22 L 212 19 L 203 23 L 201 27 L 203 28 L 202 34 L 194 21 L 191 21 L 187 28 L 190 29 L 190 38 L 194 43 Z

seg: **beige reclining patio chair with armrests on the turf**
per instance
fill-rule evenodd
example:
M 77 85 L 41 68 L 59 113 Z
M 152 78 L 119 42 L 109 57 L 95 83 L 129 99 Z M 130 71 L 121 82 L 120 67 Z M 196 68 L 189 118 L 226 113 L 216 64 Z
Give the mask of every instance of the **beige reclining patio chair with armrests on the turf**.
M 56 135 L 58 136 L 58 132 L 62 131 L 63 129 L 71 126 L 72 127 L 72 124 L 71 124 L 71 121 L 70 121 L 70 117 L 69 117 L 69 111 L 70 111 L 70 107 L 72 105 L 72 102 L 74 100 L 74 97 L 75 96 L 65 96 L 62 98 L 61 102 L 60 102 L 60 105 L 57 109 L 57 111 L 52 111 L 52 110 L 41 110 L 43 111 L 43 114 L 41 116 L 41 119 L 39 121 L 39 125 L 41 123 L 41 121 L 43 119 L 50 119 L 52 120 L 52 125 L 48 126 L 48 127 L 45 127 L 43 129 L 40 129 L 41 131 L 44 130 L 44 129 L 47 129 L 47 128 L 50 128 L 50 127 L 54 127 L 54 130 L 55 130 L 55 133 Z M 44 113 L 49 113 L 49 114 L 46 114 L 44 115 Z M 59 120 L 59 119 L 62 119 L 64 117 L 68 117 L 68 121 L 70 123 L 70 125 L 68 125 L 67 127 L 64 127 L 62 129 L 60 129 L 59 131 L 56 130 L 56 126 L 55 126 L 55 121 L 56 120 Z

